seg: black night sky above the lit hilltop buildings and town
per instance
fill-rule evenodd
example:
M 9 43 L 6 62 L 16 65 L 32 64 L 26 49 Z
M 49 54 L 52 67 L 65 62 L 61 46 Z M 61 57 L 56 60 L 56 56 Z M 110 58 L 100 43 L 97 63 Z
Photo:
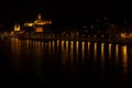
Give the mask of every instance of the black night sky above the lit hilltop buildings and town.
M 1 23 L 25 22 L 35 20 L 37 13 L 43 19 L 62 21 L 84 21 L 89 18 L 131 18 L 131 4 L 108 0 L 22 0 L 0 3 Z

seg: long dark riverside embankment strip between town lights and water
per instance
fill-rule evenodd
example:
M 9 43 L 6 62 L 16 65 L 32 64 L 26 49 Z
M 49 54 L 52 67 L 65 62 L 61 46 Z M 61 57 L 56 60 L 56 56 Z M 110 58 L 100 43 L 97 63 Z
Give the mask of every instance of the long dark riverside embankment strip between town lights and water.
M 90 36 L 52 36 L 52 35 L 0 35 L 0 38 L 15 37 L 19 40 L 34 40 L 34 41 L 81 41 L 81 42 L 103 42 L 103 43 L 121 43 L 132 44 L 132 38 L 121 37 L 90 37 Z

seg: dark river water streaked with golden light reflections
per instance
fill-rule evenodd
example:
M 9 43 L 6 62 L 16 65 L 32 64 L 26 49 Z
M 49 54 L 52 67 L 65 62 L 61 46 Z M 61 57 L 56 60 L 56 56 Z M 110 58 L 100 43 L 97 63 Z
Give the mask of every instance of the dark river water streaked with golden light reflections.
M 0 40 L 1 80 L 9 87 L 129 87 L 132 46 L 74 41 Z

